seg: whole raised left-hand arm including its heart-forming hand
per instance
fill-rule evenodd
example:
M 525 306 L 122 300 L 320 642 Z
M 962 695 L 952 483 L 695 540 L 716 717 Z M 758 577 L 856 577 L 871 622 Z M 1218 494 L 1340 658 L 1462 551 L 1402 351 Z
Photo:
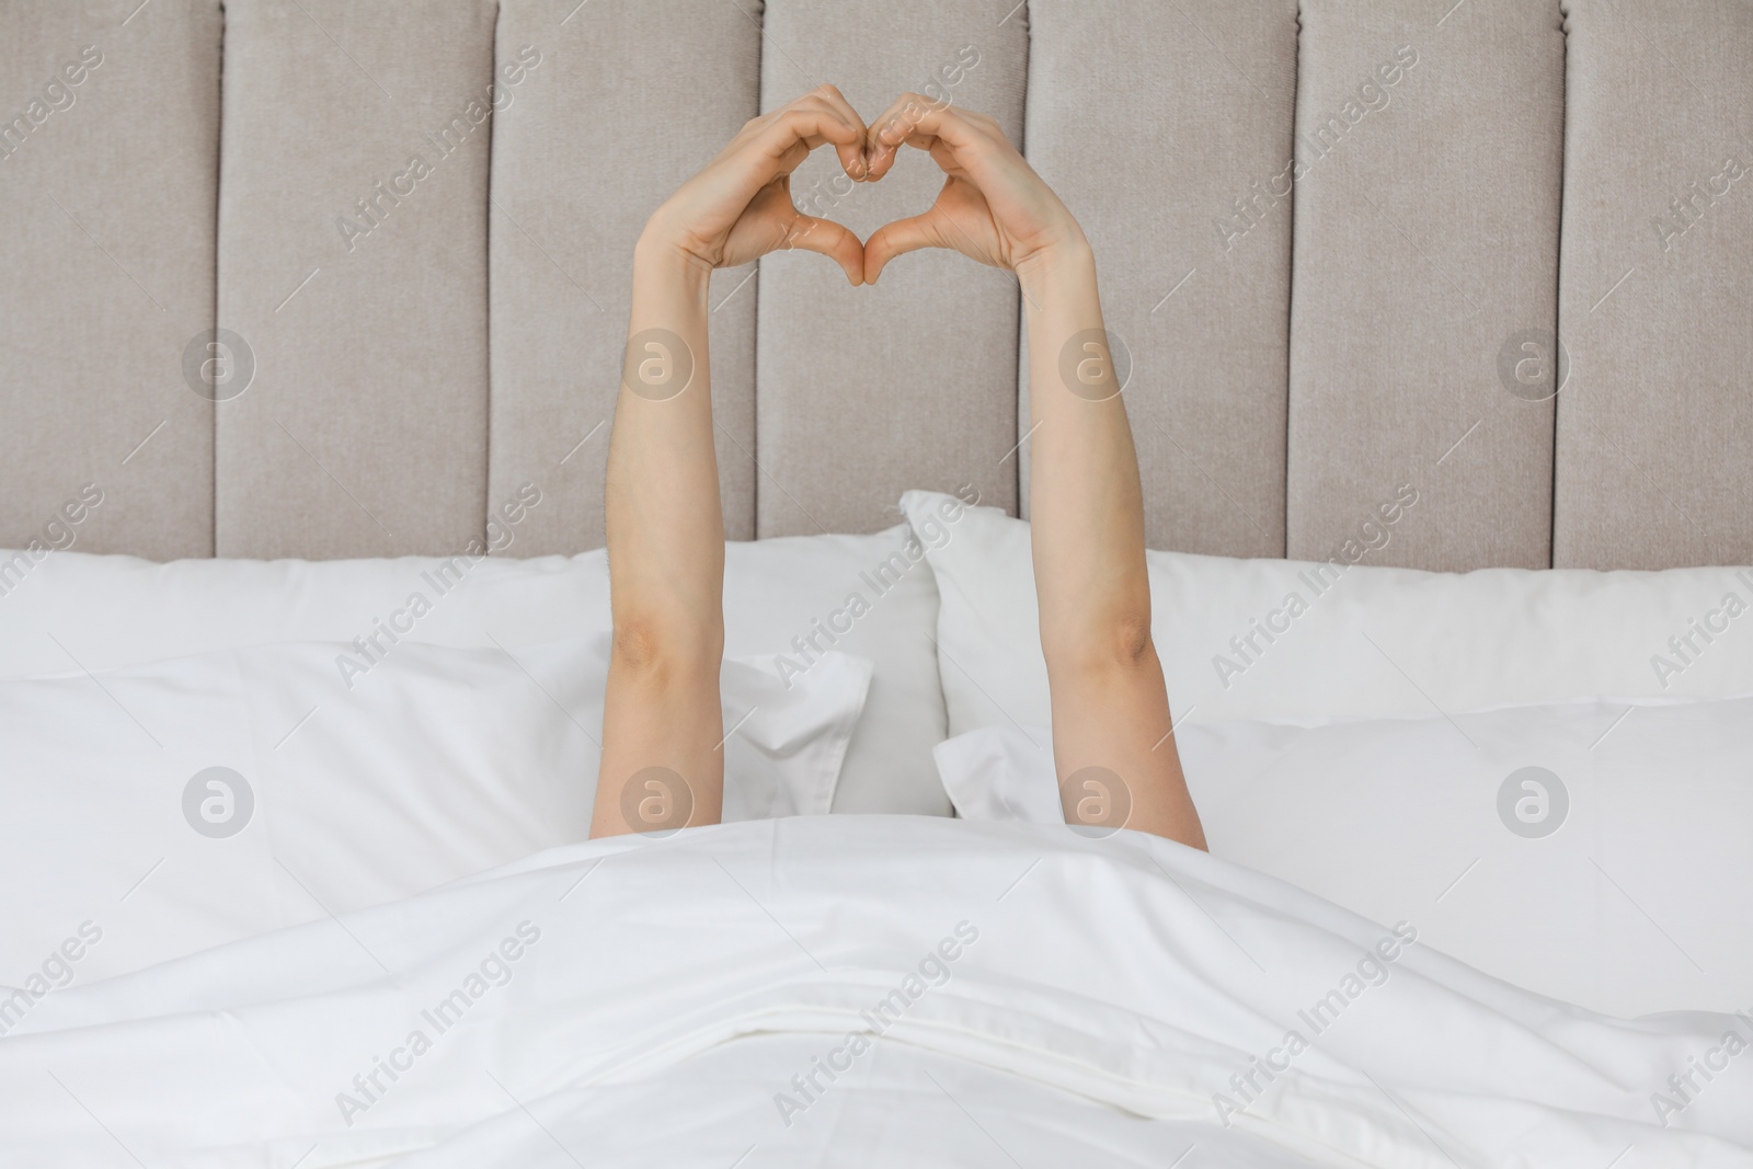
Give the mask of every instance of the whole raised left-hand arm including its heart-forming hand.
M 593 838 L 722 815 L 724 519 L 706 286 L 713 268 L 782 247 L 831 256 L 862 282 L 857 237 L 791 202 L 791 172 L 822 142 L 864 177 L 864 123 L 833 86 L 743 126 L 657 209 L 633 252 L 605 491 L 615 640 Z

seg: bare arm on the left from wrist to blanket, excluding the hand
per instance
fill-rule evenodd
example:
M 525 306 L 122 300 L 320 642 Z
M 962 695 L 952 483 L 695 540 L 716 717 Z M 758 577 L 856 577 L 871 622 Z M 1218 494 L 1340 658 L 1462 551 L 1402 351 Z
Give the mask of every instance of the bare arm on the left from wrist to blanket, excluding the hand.
M 628 822 L 636 797 L 624 801 L 622 789 L 645 768 L 682 778 L 692 804 L 685 822 L 713 824 L 722 808 L 724 519 L 712 440 L 708 279 L 710 268 L 675 249 L 640 242 L 608 449 L 615 636 L 593 836 L 678 827 Z

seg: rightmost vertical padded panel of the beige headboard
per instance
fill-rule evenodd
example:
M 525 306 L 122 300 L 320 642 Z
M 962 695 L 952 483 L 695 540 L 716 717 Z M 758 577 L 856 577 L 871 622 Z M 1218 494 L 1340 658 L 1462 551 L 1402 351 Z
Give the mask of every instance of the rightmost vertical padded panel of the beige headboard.
M 1753 5 L 1571 0 L 1553 556 L 1753 561 Z

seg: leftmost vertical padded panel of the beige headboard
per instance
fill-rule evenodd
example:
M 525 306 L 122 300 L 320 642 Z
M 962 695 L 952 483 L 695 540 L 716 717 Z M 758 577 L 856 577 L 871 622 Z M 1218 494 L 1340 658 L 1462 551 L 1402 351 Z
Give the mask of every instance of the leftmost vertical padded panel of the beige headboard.
M 217 135 L 217 0 L 0 5 L 0 547 L 212 554 Z

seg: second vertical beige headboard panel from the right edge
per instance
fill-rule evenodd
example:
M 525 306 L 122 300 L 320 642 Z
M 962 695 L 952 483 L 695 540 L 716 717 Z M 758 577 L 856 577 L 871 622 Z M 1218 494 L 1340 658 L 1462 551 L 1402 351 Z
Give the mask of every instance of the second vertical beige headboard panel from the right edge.
M 1553 407 L 1518 361 L 1557 321 L 1558 19 L 1557 0 L 1304 0 L 1292 557 L 1367 538 L 1371 564 L 1550 563 Z M 1506 347 L 1529 384 L 1499 375 Z

